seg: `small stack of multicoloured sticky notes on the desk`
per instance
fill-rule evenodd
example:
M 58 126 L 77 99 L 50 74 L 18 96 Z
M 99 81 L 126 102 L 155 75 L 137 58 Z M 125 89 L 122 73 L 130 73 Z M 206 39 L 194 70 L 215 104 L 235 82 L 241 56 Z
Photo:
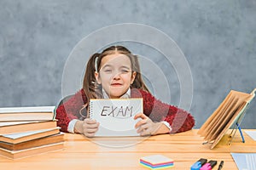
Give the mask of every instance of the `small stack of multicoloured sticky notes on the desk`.
M 149 169 L 164 169 L 174 167 L 174 161 L 162 155 L 144 156 L 140 159 L 140 164 L 143 167 L 148 167 Z

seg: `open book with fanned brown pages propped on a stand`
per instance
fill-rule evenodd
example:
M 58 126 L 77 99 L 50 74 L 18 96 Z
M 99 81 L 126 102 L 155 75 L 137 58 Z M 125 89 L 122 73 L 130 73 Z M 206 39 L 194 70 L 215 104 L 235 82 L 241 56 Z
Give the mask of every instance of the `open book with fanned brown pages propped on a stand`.
M 231 90 L 217 110 L 201 126 L 198 133 L 208 143 L 212 143 L 211 149 L 218 144 L 219 140 L 222 139 L 232 125 L 240 129 L 241 120 L 245 115 L 247 106 L 255 95 L 255 91 L 256 88 L 251 94 L 246 94 Z

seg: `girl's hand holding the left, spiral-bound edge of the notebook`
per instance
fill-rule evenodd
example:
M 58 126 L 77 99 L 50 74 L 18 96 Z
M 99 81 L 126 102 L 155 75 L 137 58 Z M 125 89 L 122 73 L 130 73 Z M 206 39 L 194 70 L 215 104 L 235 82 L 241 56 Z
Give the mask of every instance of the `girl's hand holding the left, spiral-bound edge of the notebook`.
M 84 121 L 78 121 L 75 124 L 75 132 L 83 133 L 86 137 L 94 137 L 99 128 L 100 123 L 90 118 L 85 118 Z

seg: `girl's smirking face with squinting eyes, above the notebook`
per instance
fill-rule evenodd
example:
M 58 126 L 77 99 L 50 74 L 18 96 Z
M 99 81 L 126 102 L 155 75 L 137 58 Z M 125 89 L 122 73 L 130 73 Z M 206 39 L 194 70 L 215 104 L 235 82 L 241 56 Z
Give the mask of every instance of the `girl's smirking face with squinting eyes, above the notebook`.
M 100 68 L 95 73 L 96 81 L 102 84 L 109 98 L 125 94 L 136 77 L 136 72 L 131 72 L 131 60 L 125 54 L 106 55 Z

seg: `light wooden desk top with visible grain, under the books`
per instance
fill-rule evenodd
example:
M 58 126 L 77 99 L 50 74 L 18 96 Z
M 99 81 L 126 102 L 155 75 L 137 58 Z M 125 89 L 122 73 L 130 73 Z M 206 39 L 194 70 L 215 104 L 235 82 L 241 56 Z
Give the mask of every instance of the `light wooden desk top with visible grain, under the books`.
M 217 160 L 218 164 L 223 160 L 223 169 L 236 169 L 236 163 L 230 152 L 256 152 L 256 142 L 246 133 L 244 136 L 246 143 L 241 143 L 239 133 L 236 133 L 230 146 L 222 139 L 215 149 L 210 150 L 208 144 L 202 144 L 203 139 L 197 135 L 195 129 L 185 133 L 164 134 L 149 138 L 87 139 L 80 134 L 66 133 L 64 150 L 15 161 L 0 156 L 0 169 L 147 169 L 140 166 L 139 158 L 154 154 L 172 158 L 175 167 L 171 169 L 190 169 L 190 166 L 201 157 Z M 119 145 L 119 147 L 113 148 L 109 145 Z

